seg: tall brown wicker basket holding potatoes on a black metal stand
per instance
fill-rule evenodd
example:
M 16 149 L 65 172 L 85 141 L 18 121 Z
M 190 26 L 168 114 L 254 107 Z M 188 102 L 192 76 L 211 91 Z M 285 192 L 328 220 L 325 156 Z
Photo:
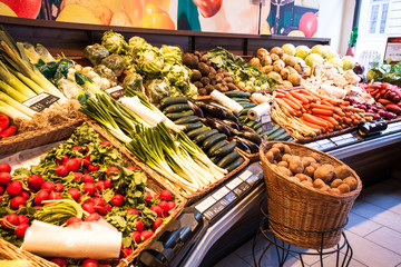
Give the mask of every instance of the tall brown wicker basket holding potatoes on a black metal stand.
M 341 238 L 351 207 L 362 190 L 362 181 L 351 192 L 332 195 L 316 188 L 306 187 L 277 172 L 265 157 L 265 152 L 278 141 L 263 142 L 260 149 L 267 190 L 267 211 L 272 231 L 282 240 L 301 248 L 331 248 Z M 322 162 L 334 167 L 342 161 L 319 150 L 305 146 L 282 142 L 291 147 L 296 156 L 321 155 Z

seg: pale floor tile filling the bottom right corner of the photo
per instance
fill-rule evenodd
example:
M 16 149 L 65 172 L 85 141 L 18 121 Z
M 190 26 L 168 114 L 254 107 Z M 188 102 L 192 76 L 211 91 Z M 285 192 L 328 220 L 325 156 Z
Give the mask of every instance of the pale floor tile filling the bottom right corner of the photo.
M 365 238 L 351 231 L 346 233 L 346 238 L 353 249 L 353 259 L 366 266 L 395 266 L 401 263 L 401 255 L 390 251 Z

